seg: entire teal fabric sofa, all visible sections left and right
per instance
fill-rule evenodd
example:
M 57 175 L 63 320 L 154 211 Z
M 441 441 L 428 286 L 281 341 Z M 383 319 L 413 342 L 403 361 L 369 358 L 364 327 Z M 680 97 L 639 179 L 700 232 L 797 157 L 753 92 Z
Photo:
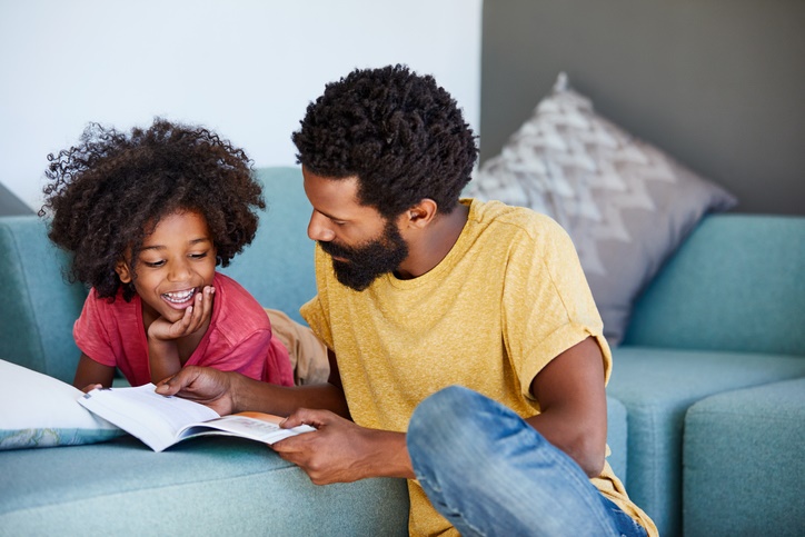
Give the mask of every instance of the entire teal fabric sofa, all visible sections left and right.
M 298 308 L 315 294 L 301 175 L 266 168 L 258 177 L 268 203 L 260 230 L 223 271 L 301 320 Z M 805 218 L 708 217 L 614 349 L 609 463 L 663 536 L 682 533 L 683 521 L 686 535 L 741 535 L 729 528 L 747 520 L 776 535 L 805 527 L 795 448 L 805 412 L 803 245 Z M 38 218 L 0 218 L 0 359 L 70 382 L 86 290 L 64 281 L 64 261 Z M 784 478 L 748 488 L 745 475 Z M 0 536 L 407 533 L 405 480 L 320 487 L 238 439 L 193 439 L 162 454 L 128 436 L 0 451 Z

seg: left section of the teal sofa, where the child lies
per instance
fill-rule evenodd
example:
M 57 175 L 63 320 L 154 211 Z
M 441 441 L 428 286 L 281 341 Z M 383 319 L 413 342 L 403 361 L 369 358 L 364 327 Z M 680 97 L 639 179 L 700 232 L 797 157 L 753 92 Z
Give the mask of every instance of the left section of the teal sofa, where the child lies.
M 301 320 L 316 288 L 301 173 L 271 168 L 259 178 L 268 208 L 257 238 L 222 271 Z M 0 218 L 0 359 L 72 382 L 72 324 L 87 291 L 66 282 L 66 259 L 38 217 Z M 316 486 L 249 440 L 193 439 L 157 454 L 123 436 L 0 451 L 0 536 L 407 533 L 404 479 Z

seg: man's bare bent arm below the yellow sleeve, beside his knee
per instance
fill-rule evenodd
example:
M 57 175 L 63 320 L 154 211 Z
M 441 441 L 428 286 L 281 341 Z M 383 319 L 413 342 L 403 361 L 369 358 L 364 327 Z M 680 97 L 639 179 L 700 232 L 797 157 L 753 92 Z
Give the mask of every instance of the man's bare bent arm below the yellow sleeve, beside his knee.
M 606 457 L 604 357 L 589 337 L 554 358 L 531 381 L 541 412 L 527 421 L 589 476 Z

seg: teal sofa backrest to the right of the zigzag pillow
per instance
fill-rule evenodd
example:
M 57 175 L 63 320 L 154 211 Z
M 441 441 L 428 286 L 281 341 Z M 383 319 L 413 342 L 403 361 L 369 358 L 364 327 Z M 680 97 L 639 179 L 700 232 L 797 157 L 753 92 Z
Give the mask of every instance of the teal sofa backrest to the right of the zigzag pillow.
M 805 218 L 705 218 L 638 299 L 624 345 L 805 357 Z

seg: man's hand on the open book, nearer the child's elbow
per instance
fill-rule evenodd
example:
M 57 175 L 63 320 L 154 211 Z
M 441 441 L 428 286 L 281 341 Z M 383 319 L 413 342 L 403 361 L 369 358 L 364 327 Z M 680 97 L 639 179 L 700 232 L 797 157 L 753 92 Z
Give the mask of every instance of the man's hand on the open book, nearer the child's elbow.
M 226 416 L 235 409 L 232 384 L 236 375 L 209 367 L 187 366 L 172 377 L 161 380 L 156 391 L 200 402 Z

